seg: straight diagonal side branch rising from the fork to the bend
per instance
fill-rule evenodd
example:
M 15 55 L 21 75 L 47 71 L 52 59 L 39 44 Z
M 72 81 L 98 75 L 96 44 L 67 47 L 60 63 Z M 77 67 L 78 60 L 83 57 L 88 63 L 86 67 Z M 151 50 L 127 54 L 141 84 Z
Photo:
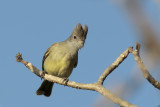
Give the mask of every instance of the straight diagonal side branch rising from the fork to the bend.
M 114 70 L 116 69 L 128 56 L 129 50 L 133 49 L 133 47 L 127 48 L 117 59 L 115 62 L 113 62 L 99 77 L 98 83 L 103 84 L 106 77 Z

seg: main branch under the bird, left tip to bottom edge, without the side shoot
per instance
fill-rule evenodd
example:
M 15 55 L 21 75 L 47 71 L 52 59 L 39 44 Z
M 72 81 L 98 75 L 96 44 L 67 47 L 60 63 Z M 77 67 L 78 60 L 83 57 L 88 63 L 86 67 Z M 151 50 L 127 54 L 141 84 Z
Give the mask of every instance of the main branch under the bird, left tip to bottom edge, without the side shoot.
M 42 71 L 37 69 L 35 66 L 33 66 L 28 61 L 24 61 L 22 58 L 22 55 L 20 53 L 17 54 L 16 61 L 23 63 L 33 73 L 35 73 L 37 76 L 39 76 L 45 80 L 48 80 L 48 81 L 54 82 L 54 83 L 58 83 L 61 85 L 66 85 L 63 78 L 59 78 L 59 77 L 48 75 L 48 74 L 42 75 L 43 74 Z M 119 98 L 118 96 L 114 95 L 113 93 L 111 93 L 109 90 L 104 88 L 103 85 L 99 84 L 98 82 L 95 82 L 93 84 L 83 84 L 83 83 L 77 83 L 74 81 L 68 81 L 67 86 L 72 87 L 72 88 L 77 88 L 77 89 L 97 91 L 100 94 L 102 94 L 104 97 L 108 98 L 112 102 L 114 102 L 122 107 L 137 107 L 137 106 L 130 104 L 127 101 Z

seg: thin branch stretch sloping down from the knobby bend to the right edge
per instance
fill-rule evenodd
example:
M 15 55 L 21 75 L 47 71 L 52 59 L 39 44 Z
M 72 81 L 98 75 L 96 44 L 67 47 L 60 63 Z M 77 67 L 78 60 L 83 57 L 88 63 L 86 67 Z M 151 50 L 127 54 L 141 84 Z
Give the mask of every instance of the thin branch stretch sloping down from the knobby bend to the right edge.
M 160 83 L 155 80 L 152 75 L 149 73 L 149 71 L 147 70 L 147 68 L 145 67 L 145 65 L 143 64 L 143 61 L 139 55 L 139 50 L 140 50 L 140 44 L 136 43 L 135 46 L 135 51 L 133 51 L 133 49 L 130 49 L 129 51 L 134 55 L 134 58 L 139 66 L 139 68 L 141 69 L 143 76 L 157 89 L 160 89 Z

